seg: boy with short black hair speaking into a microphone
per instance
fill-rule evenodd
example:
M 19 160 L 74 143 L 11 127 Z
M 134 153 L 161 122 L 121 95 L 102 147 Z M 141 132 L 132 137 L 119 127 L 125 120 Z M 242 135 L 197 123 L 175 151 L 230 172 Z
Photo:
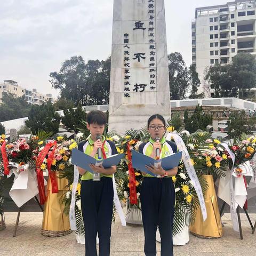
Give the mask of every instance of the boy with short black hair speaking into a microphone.
M 87 129 L 91 134 L 87 140 L 78 144 L 78 150 L 95 159 L 99 159 L 98 149 L 102 152 L 102 158 L 117 154 L 115 143 L 102 136 L 106 123 L 106 115 L 102 111 L 91 111 L 87 115 Z M 85 228 L 85 255 L 97 256 L 98 233 L 99 255 L 108 256 L 114 196 L 112 178 L 116 166 L 105 169 L 103 166 L 91 164 L 90 167 L 94 173 L 100 173 L 100 181 L 94 181 L 93 174 L 78 167 L 82 175 L 81 205 Z

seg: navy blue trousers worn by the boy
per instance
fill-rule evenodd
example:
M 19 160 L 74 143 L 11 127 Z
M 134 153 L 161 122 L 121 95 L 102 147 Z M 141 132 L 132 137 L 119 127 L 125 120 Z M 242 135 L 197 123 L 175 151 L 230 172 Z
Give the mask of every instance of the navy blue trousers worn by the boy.
M 112 178 L 102 177 L 100 181 L 82 181 L 81 206 L 85 229 L 85 256 L 97 256 L 97 233 L 99 256 L 110 255 L 113 197 Z

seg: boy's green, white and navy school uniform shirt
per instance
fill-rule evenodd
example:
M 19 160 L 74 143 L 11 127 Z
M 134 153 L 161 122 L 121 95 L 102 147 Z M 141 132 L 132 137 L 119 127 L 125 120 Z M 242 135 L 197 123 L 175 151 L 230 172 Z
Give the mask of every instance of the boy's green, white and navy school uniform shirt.
M 111 155 L 116 155 L 117 154 L 117 149 L 116 149 L 116 145 L 113 141 L 110 140 L 106 140 L 104 136 L 102 136 L 101 139 L 102 143 L 104 143 L 103 148 L 105 150 L 106 153 L 106 157 L 108 158 Z M 81 141 L 78 144 L 78 150 L 82 151 L 83 153 L 87 154 L 87 155 L 91 155 L 92 150 L 94 147 L 94 141 L 92 140 L 91 136 L 89 137 L 88 140 L 84 140 Z M 98 158 L 98 154 L 96 154 L 94 156 L 95 159 L 99 159 Z M 108 177 L 108 178 L 113 178 L 113 174 L 100 174 L 100 177 Z M 93 174 L 90 173 L 89 171 L 87 171 L 83 176 L 82 176 L 82 180 L 92 180 L 93 178 Z

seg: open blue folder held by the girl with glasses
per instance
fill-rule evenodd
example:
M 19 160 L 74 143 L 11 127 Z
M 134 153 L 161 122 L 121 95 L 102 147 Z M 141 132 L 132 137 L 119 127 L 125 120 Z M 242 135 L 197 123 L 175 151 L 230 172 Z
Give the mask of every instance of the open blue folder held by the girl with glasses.
M 173 155 L 164 157 L 162 159 L 155 160 L 154 158 L 151 158 L 135 150 L 132 150 L 132 167 L 142 172 L 146 172 L 154 177 L 157 177 L 157 174 L 154 174 L 148 171 L 145 165 L 150 166 L 151 164 L 154 166 L 156 163 L 159 163 L 164 170 L 170 170 L 179 165 L 181 156 L 182 156 L 182 151 L 180 151 L 179 153 L 175 153 Z

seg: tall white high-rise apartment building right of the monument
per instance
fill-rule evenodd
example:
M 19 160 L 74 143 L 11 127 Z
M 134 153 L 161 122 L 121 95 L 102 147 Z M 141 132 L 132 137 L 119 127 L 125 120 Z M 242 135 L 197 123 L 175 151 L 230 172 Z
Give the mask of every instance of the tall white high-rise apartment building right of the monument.
M 201 81 L 200 93 L 206 67 L 228 65 L 240 52 L 256 55 L 256 0 L 196 8 L 191 29 L 192 63 Z

